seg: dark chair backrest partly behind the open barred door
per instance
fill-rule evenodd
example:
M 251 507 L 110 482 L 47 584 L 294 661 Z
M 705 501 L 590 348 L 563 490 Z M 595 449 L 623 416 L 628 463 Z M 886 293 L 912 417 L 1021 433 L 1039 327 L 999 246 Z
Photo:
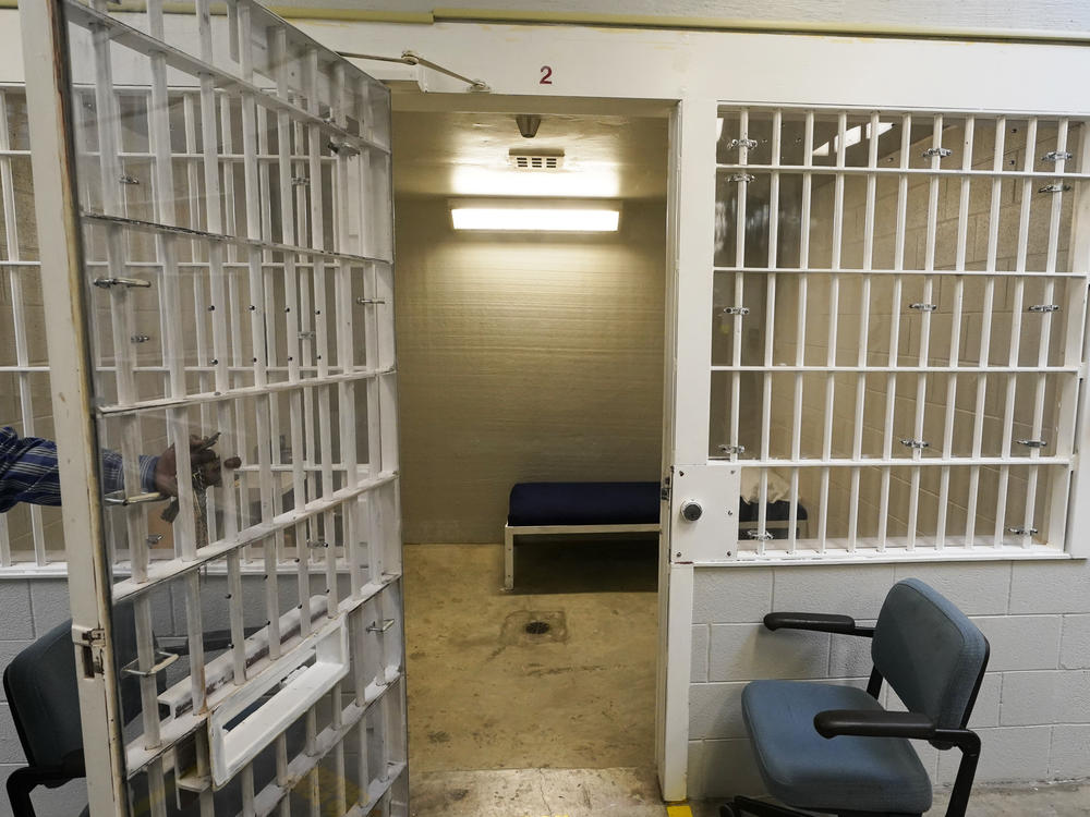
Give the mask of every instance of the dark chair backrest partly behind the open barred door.
M 113 609 L 113 634 L 114 655 L 124 666 L 136 656 L 132 605 Z M 71 621 L 58 624 L 16 655 L 4 670 L 3 687 L 31 766 L 60 766 L 83 749 Z M 138 679 L 123 676 L 121 708 L 126 722 L 140 706 Z

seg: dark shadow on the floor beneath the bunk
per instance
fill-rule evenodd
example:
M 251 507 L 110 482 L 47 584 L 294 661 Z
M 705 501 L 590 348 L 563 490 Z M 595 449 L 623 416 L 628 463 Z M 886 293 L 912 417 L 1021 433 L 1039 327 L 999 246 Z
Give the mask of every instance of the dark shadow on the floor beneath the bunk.
M 514 545 L 514 594 L 654 593 L 658 535 L 522 538 Z

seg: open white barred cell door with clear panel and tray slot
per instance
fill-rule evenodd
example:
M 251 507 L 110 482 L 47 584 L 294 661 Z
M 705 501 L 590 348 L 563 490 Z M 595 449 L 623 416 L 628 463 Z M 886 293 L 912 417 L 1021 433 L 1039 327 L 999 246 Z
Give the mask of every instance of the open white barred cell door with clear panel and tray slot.
M 389 94 L 165 5 L 20 8 L 90 814 L 407 815 Z

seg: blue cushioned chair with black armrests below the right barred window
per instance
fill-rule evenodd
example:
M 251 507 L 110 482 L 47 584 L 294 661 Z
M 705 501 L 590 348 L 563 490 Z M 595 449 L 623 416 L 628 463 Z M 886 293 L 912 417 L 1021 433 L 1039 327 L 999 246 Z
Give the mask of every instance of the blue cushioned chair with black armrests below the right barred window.
M 720 817 L 908 817 L 931 808 L 931 779 L 910 740 L 958 748 L 947 817 L 965 815 L 980 756 L 966 724 L 988 666 L 988 641 L 946 598 L 916 578 L 889 590 L 877 623 L 847 615 L 768 613 L 768 630 L 810 630 L 871 638 L 874 669 L 865 692 L 802 681 L 754 681 L 742 715 L 768 792 L 786 806 L 737 796 Z M 877 702 L 883 680 L 908 707 Z

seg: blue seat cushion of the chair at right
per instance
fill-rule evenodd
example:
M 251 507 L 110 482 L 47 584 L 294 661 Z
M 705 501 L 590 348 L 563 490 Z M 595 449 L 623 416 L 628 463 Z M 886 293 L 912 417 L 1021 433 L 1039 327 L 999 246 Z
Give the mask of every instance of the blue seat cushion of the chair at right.
M 742 715 L 768 792 L 796 808 L 899 812 L 931 808 L 931 780 L 907 740 L 822 737 L 814 716 L 826 709 L 881 705 L 855 686 L 754 681 L 742 691 Z

